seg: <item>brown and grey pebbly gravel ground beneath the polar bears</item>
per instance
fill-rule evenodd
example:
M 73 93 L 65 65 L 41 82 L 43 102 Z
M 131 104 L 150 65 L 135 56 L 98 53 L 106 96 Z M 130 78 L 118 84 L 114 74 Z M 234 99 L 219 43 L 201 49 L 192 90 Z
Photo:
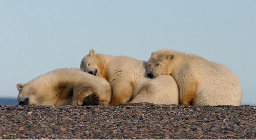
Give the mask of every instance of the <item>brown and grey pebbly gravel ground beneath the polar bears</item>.
M 1 139 L 256 139 L 256 107 L 0 106 Z

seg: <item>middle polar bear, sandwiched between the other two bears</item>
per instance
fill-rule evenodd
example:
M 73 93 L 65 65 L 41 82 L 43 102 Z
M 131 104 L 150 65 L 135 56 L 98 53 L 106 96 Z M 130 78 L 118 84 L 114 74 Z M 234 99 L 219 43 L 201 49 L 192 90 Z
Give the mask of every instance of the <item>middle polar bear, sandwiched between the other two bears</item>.
M 110 82 L 110 105 L 138 102 L 179 104 L 179 91 L 173 77 L 166 75 L 156 79 L 147 78 L 146 62 L 126 56 L 97 54 L 91 49 L 83 57 L 80 68 Z

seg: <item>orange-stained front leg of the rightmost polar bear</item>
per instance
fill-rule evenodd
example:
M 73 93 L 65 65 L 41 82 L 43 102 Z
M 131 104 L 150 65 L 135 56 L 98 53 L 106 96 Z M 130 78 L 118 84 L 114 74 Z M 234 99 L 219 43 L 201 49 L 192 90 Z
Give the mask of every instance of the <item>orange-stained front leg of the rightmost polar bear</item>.
M 185 82 L 180 87 L 180 103 L 182 105 L 193 105 L 192 100 L 197 92 L 198 82 Z

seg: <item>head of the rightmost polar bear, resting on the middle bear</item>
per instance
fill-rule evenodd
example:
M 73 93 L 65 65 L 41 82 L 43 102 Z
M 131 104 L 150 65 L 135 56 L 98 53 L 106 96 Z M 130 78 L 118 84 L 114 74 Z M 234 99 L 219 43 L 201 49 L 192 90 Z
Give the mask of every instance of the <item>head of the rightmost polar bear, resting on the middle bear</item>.
M 163 49 L 152 52 L 147 63 L 147 76 L 155 78 L 161 74 L 170 75 L 176 63 L 176 58 L 174 50 Z

